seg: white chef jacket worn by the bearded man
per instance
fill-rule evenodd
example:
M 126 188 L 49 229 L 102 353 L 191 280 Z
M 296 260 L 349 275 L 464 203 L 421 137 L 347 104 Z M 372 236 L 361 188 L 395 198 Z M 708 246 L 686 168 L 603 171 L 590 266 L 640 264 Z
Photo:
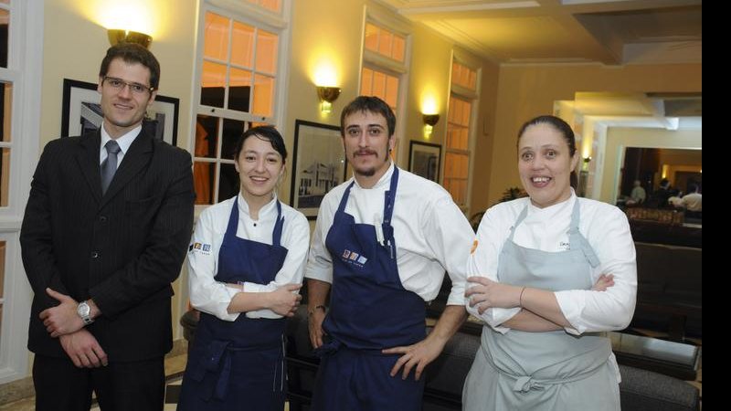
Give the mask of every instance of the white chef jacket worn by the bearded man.
M 393 171 L 391 163 L 373 188 L 363 188 L 355 182 L 345 212 L 355 218 L 356 224 L 381 225 L 384 193 L 390 188 Z M 353 178 L 334 187 L 323 198 L 304 275 L 308 279 L 333 282 L 333 260 L 325 247 L 325 238 L 351 181 Z M 425 301 L 434 300 L 446 270 L 452 282 L 447 304 L 464 305 L 466 261 L 474 234 L 450 194 L 439 184 L 399 168 L 391 225 L 396 239 L 398 277 L 404 289 Z

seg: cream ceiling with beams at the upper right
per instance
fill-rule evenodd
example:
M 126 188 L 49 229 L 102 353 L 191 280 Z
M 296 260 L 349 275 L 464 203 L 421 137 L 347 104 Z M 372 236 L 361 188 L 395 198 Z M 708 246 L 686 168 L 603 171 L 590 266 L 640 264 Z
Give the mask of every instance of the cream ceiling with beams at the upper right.
M 700 62 L 701 0 L 379 0 L 501 64 Z

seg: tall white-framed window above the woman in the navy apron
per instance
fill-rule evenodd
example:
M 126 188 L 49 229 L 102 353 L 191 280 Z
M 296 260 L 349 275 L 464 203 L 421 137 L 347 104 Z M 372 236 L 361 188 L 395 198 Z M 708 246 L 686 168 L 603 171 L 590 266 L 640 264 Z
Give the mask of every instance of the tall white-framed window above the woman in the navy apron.
M 242 132 L 281 125 L 286 0 L 248 0 L 235 9 L 202 5 L 199 26 L 193 174 L 196 204 L 238 193 L 233 152 Z

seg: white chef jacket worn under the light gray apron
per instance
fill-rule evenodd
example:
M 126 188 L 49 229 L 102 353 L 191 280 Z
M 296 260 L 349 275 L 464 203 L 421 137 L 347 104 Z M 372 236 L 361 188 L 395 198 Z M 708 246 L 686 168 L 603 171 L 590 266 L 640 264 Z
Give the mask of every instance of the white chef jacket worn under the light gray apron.
M 573 189 L 569 199 L 546 208 L 538 208 L 530 203 L 528 197 L 524 197 L 494 205 L 487 210 L 477 230 L 477 247 L 470 255 L 468 271 L 471 276 L 497 280 L 498 256 L 510 236 L 510 227 L 513 227 L 525 205 L 528 205 L 528 213 L 515 228 L 515 244 L 547 252 L 561 252 L 570 248 L 567 231 L 576 201 L 579 202 L 580 213 L 578 231 L 588 240 L 599 258 L 599 266 L 591 271 L 592 283 L 601 274 L 613 274 L 614 286 L 604 292 L 557 291 L 558 305 L 571 324 L 571 327 L 566 327 L 566 331 L 578 335 L 583 332 L 624 329 L 630 324 L 637 297 L 637 264 L 630 224 L 627 216 L 616 206 L 577 198 Z M 476 307 L 468 305 L 467 311 L 482 318 L 494 330 L 507 332 L 509 329 L 501 324 L 511 319 L 520 308 L 491 308 L 480 315 Z

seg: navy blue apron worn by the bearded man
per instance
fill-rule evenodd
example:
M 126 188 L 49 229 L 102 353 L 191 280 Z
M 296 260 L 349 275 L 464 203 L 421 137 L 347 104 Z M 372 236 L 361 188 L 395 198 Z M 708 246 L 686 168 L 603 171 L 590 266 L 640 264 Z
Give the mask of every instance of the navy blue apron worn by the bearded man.
M 426 336 L 424 300 L 404 290 L 398 277 L 391 227 L 397 184 L 394 167 L 383 223 L 376 227 L 355 224 L 345 213 L 351 183 L 325 239 L 333 258 L 333 287 L 323 330 L 332 341 L 318 350 L 322 361 L 313 390 L 315 411 L 421 409 L 425 378 L 415 381 L 413 372 L 406 381 L 401 374 L 391 377 L 399 355 L 381 353 Z

